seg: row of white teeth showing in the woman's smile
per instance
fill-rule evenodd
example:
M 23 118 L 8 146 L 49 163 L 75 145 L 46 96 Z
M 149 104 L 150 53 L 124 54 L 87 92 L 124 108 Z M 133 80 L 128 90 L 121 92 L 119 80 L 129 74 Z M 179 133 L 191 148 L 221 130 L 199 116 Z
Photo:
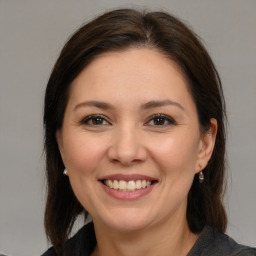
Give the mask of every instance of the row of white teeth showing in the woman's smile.
M 104 184 L 110 188 L 116 189 L 116 190 L 122 190 L 122 191 L 135 191 L 136 189 L 142 189 L 147 188 L 151 185 L 151 181 L 146 180 L 130 180 L 130 181 L 124 181 L 124 180 L 105 180 Z

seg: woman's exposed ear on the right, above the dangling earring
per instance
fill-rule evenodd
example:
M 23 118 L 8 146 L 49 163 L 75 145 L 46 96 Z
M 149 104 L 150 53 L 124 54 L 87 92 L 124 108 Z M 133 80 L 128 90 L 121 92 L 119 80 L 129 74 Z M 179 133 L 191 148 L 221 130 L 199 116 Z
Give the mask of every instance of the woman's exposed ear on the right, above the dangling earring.
M 196 173 L 199 173 L 207 166 L 214 150 L 218 123 L 215 118 L 211 118 L 210 123 L 211 124 L 208 131 L 201 135 L 197 156 Z

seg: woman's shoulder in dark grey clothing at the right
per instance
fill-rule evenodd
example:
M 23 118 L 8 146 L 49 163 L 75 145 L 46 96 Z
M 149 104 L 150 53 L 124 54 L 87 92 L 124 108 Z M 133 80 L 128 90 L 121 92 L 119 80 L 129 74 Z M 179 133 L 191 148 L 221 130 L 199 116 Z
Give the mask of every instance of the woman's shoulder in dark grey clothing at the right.
M 188 256 L 256 256 L 256 249 L 238 244 L 226 234 L 206 226 Z

